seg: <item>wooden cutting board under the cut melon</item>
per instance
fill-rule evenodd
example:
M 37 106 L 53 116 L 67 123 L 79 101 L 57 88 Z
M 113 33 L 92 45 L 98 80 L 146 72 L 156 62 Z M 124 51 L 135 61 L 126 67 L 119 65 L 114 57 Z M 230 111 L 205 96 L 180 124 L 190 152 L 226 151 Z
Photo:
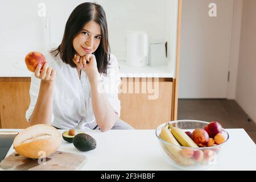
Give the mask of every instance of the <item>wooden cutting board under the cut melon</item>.
M 29 171 L 74 171 L 79 170 L 83 164 L 86 163 L 86 156 L 79 154 L 72 154 L 68 152 L 56 151 L 51 156 L 48 156 L 47 162 L 42 165 L 38 165 L 28 169 Z M 7 158 L 2 160 L 0 167 L 2 169 L 14 169 L 15 167 L 30 163 L 31 160 L 37 159 L 26 159 L 21 155 L 18 155 L 16 152 L 9 155 Z M 41 159 L 42 161 L 42 159 Z

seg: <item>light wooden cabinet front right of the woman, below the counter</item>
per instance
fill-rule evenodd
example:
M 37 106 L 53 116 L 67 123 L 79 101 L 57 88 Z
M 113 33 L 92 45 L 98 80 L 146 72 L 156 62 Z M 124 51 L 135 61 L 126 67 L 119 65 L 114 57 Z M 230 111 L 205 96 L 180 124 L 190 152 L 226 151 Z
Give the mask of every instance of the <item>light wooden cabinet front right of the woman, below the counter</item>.
M 139 79 L 139 80 L 138 80 Z M 147 85 L 150 80 L 146 78 L 138 78 L 135 80 L 128 80 L 122 78 L 122 83 L 119 86 L 119 100 L 121 101 L 121 116 L 120 118 L 129 123 L 135 129 L 156 129 L 160 124 L 171 120 L 172 112 L 172 79 L 159 78 L 158 97 L 155 100 L 150 100 L 148 96 L 152 96 L 152 92 L 143 93 L 142 85 Z M 154 82 L 157 80 L 152 80 Z M 135 85 L 139 85 L 139 93 L 135 93 Z M 130 89 L 133 92 L 120 93 Z M 157 87 L 157 86 L 156 86 Z M 138 88 L 138 86 L 137 86 Z M 149 86 L 149 88 L 152 88 Z M 150 89 L 149 89 L 150 91 Z M 152 90 L 151 90 L 152 91 Z

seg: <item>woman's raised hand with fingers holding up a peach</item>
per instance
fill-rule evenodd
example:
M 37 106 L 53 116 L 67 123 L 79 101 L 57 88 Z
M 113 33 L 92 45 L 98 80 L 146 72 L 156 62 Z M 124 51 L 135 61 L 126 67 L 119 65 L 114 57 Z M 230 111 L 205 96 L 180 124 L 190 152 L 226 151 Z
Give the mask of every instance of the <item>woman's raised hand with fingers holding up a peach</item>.
M 42 68 L 41 64 L 38 64 L 38 66 L 35 69 L 35 77 L 40 78 L 42 81 L 48 82 L 53 81 L 55 78 L 55 72 L 52 68 L 49 68 L 49 63 L 46 61 L 44 63 L 42 71 L 40 71 Z

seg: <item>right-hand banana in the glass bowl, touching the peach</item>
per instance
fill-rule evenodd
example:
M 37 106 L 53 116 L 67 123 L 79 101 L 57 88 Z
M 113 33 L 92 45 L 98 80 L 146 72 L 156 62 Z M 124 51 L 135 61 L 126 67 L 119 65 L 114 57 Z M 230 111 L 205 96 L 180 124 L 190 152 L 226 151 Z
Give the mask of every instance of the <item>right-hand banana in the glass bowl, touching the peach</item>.
M 197 146 L 197 144 L 183 130 L 171 125 L 169 125 L 169 129 L 181 146 L 199 148 L 199 146 Z

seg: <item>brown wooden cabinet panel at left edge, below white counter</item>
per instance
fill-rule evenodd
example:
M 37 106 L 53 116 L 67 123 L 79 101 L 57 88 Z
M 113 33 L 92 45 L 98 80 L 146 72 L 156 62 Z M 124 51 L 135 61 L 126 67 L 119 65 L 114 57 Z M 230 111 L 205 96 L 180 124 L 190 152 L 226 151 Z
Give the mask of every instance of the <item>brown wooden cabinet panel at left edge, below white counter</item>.
M 2 129 L 29 126 L 25 113 L 30 104 L 30 78 L 0 78 L 0 123 Z

